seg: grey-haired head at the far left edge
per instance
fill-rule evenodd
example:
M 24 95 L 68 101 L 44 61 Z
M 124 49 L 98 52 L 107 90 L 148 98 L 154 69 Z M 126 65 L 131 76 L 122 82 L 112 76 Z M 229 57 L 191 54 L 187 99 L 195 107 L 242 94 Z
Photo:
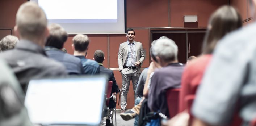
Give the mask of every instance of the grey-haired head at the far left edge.
M 13 35 L 5 36 L 0 41 L 0 48 L 2 51 L 13 49 L 19 42 L 18 38 Z

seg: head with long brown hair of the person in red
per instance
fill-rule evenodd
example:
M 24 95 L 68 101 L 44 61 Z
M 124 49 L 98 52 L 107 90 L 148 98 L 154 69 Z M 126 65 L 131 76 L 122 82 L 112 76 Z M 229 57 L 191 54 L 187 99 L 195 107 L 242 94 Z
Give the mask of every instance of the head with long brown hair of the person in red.
M 203 42 L 202 53 L 211 54 L 218 43 L 227 33 L 242 26 L 238 11 L 232 6 L 222 6 L 209 19 L 208 31 Z

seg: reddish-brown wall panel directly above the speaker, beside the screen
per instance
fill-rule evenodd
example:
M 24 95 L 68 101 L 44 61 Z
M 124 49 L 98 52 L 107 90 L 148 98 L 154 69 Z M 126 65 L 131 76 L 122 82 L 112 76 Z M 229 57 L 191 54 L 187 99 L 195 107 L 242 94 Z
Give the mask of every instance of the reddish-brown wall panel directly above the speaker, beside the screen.
M 127 0 L 127 27 L 168 27 L 168 0 Z

